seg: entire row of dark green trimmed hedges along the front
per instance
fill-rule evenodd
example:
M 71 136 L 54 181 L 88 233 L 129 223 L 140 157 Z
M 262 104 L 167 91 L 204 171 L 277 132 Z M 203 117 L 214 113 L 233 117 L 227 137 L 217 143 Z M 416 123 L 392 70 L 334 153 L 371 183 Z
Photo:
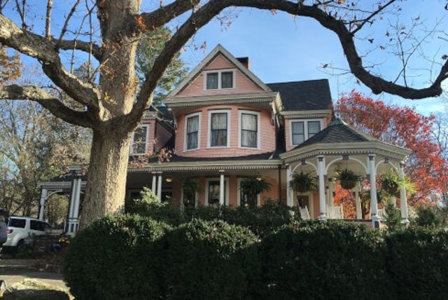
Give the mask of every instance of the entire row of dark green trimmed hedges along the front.
M 126 215 L 94 222 L 67 250 L 76 299 L 448 299 L 448 233 L 430 229 L 307 221 L 260 240 L 222 220 Z

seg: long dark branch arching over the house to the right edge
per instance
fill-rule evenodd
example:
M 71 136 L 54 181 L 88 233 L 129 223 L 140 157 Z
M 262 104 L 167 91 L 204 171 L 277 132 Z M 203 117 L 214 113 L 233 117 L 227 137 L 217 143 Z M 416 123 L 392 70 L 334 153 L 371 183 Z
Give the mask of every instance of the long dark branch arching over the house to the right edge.
M 176 4 L 178 1 L 174 2 Z M 187 1 L 188 2 L 188 1 Z M 386 6 L 389 6 L 393 1 L 388 1 Z M 173 5 L 174 5 L 173 4 Z M 448 78 L 448 60 L 444 62 L 440 69 L 440 73 L 430 86 L 426 88 L 409 88 L 407 86 L 401 86 L 391 81 L 386 81 L 379 76 L 371 74 L 370 71 L 363 66 L 363 61 L 358 55 L 355 42 L 353 39 L 353 33 L 347 29 L 342 20 L 337 20 L 333 16 L 325 12 L 325 10 L 319 8 L 319 6 L 306 6 L 299 2 L 293 3 L 291 1 L 284 0 L 211 0 L 184 23 L 178 32 L 172 37 L 172 39 L 166 44 L 165 50 L 161 53 L 158 60 L 155 61 L 154 67 L 151 73 L 148 74 L 146 81 L 142 87 L 141 93 L 138 97 L 138 102 L 135 107 L 135 112 L 142 114 L 144 107 L 146 106 L 151 93 L 155 88 L 157 79 L 161 76 L 163 69 L 169 63 L 169 60 L 181 49 L 183 43 L 186 43 L 188 39 L 195 34 L 197 29 L 204 26 L 213 18 L 218 15 L 224 8 L 229 6 L 246 6 L 260 9 L 276 9 L 284 11 L 292 15 L 300 15 L 317 20 L 323 27 L 330 29 L 337 34 L 339 41 L 344 50 L 346 60 L 349 63 L 349 67 L 354 76 L 362 81 L 367 87 L 372 90 L 372 93 L 389 93 L 393 95 L 399 95 L 407 99 L 423 99 L 426 97 L 437 97 L 442 93 L 441 83 Z M 386 7 L 384 6 L 384 7 Z M 188 8 L 185 6 L 185 8 Z M 384 8 L 379 8 L 382 11 Z M 157 12 L 157 11 L 156 11 Z M 376 12 L 374 13 L 377 14 Z M 145 15 L 148 18 L 151 14 Z M 156 14 L 153 16 L 157 16 Z M 162 17 L 158 17 L 160 20 L 164 20 Z M 156 18 L 156 19 L 158 19 Z M 165 18 L 169 18 L 169 15 L 165 15 Z M 146 20 L 146 19 L 145 19 Z M 367 18 L 365 20 L 370 20 Z M 155 26 L 161 25 L 158 20 L 153 20 L 152 23 Z M 146 100 L 145 100 L 146 99 Z

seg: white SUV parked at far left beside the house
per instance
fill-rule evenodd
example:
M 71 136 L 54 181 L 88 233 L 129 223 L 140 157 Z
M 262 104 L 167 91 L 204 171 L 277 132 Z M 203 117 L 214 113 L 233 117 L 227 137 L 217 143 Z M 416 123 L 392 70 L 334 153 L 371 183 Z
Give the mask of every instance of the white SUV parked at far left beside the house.
M 26 244 L 29 238 L 45 234 L 45 229 L 50 229 L 50 224 L 30 217 L 9 217 L 8 240 L 3 244 L 4 248 L 14 247 L 16 251 Z

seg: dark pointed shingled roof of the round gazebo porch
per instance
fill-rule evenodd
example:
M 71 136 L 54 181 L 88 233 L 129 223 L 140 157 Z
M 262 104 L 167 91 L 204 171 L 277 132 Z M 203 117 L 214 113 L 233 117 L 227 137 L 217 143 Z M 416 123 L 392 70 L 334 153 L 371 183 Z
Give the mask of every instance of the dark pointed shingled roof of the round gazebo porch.
M 350 125 L 344 123 L 338 118 L 333 121 L 327 128 L 316 133 L 313 137 L 307 139 L 302 144 L 296 146 L 294 149 L 300 149 L 311 144 L 335 144 L 347 142 L 370 142 L 378 141 L 374 137 L 365 135 L 363 132 L 352 128 Z

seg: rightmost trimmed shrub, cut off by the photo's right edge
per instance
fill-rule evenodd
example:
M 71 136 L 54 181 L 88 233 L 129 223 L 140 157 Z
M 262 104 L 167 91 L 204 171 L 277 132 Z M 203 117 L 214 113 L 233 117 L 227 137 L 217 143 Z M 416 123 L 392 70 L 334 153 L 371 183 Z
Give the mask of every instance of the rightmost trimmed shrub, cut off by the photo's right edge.
M 386 266 L 397 299 L 448 299 L 448 233 L 412 228 L 388 233 Z

